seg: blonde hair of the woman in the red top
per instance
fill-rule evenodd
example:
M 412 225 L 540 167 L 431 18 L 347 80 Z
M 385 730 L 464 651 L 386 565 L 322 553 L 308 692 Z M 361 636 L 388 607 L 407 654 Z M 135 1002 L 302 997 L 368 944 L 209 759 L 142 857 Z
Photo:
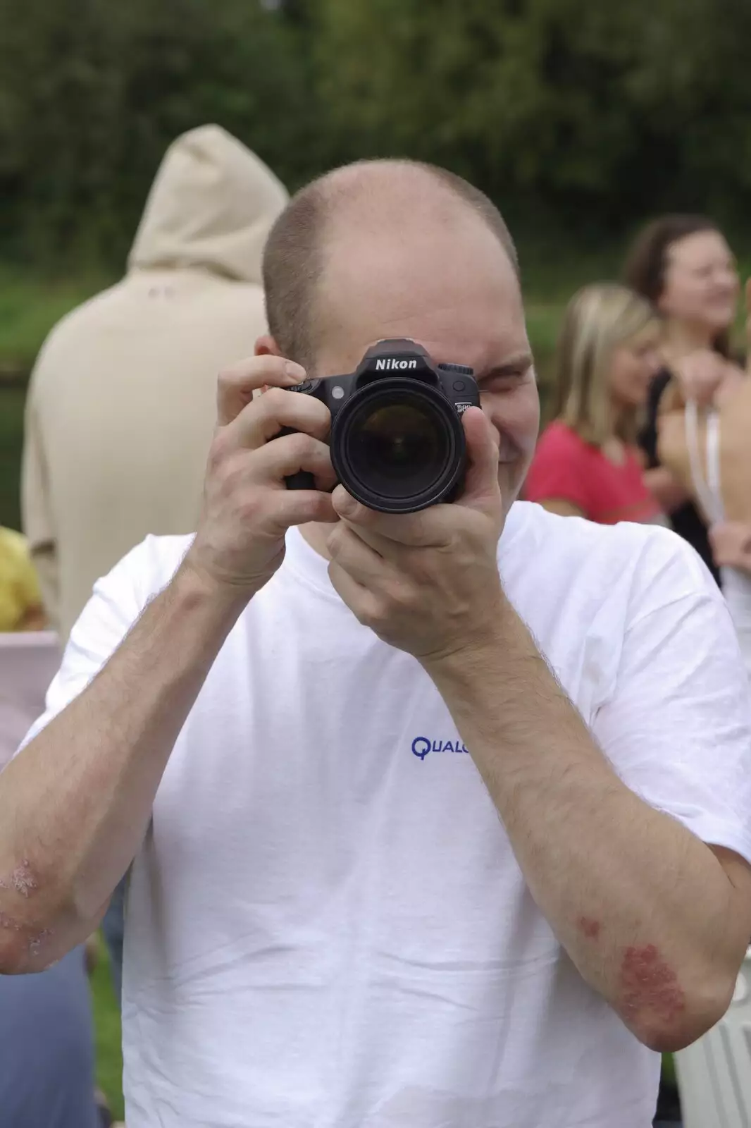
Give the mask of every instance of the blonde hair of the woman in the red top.
M 601 447 L 613 434 L 635 441 L 640 412 L 615 414 L 608 370 L 619 345 L 657 324 L 644 298 L 615 282 L 587 285 L 569 301 L 556 354 L 556 417 L 585 442 Z

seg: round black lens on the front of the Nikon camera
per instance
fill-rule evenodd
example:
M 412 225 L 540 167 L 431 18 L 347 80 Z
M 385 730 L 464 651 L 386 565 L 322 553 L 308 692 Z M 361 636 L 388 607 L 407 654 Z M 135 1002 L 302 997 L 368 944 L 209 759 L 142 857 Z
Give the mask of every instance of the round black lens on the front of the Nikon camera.
M 390 380 L 363 389 L 332 433 L 338 478 L 363 504 L 415 512 L 445 500 L 463 468 L 463 431 L 453 405 L 430 387 Z

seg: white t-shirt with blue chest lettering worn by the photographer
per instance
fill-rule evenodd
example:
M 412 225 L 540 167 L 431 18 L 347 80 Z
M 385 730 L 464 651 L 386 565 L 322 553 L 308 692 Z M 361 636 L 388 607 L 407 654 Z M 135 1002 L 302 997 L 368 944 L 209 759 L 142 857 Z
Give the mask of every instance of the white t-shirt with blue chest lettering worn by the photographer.
M 98 584 L 39 726 L 187 544 L 150 539 Z M 751 861 L 751 704 L 693 552 L 518 503 L 498 561 L 628 786 Z M 652 1123 L 659 1056 L 560 949 L 433 684 L 297 530 L 133 864 L 123 1041 L 129 1128 Z

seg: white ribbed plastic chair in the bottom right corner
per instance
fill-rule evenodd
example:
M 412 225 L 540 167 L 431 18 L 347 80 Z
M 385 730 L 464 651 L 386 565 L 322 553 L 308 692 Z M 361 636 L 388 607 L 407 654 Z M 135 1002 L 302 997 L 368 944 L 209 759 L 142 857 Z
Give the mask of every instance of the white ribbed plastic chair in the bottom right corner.
M 751 1128 L 751 948 L 727 1013 L 675 1055 L 683 1128 Z

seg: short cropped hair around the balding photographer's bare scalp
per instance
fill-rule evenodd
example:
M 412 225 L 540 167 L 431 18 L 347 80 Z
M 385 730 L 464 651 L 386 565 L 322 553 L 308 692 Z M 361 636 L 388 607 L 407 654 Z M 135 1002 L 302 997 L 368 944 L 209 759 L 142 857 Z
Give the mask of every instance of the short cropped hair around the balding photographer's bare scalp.
M 364 160 L 350 168 L 391 165 L 414 168 L 443 185 L 466 203 L 484 222 L 511 259 L 519 275 L 519 258 L 501 212 L 492 200 L 468 180 L 435 165 L 414 160 Z M 266 241 L 263 259 L 264 293 L 268 329 L 282 354 L 311 368 L 315 356 L 315 300 L 323 274 L 323 239 L 332 201 L 330 180 L 336 171 L 301 188 L 276 219 Z

